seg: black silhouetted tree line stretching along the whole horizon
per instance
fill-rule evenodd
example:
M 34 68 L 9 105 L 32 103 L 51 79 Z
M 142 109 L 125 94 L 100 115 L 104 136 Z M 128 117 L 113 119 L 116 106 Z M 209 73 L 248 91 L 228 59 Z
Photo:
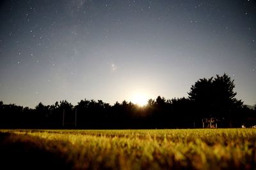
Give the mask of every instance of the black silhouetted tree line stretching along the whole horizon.
M 158 96 L 140 107 L 131 102 L 113 105 L 101 100 L 39 103 L 35 109 L 0 102 L 0 128 L 29 129 L 176 129 L 201 128 L 202 118 L 220 119 L 218 127 L 256 124 L 256 105 L 249 109 L 236 99 L 234 80 L 227 74 L 202 78 L 191 86 L 188 97 Z

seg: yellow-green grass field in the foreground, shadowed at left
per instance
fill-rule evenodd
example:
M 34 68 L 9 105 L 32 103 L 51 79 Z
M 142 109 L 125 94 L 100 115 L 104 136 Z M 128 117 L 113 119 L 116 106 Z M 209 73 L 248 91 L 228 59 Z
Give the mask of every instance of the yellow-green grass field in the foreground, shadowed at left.
M 0 132 L 8 169 L 256 169 L 256 129 Z

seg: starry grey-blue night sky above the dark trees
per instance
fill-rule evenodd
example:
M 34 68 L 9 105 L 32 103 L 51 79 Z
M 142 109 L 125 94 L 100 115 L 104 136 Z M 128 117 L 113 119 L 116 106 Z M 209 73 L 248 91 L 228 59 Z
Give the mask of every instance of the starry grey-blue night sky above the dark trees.
M 256 102 L 256 2 L 8 0 L 0 3 L 0 101 L 187 97 L 227 73 Z

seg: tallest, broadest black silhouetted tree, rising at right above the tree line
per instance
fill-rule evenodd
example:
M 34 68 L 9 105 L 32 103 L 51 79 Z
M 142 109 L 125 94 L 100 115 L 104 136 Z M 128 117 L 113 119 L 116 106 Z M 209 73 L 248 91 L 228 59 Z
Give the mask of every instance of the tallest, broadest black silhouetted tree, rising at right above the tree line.
M 198 118 L 225 117 L 232 126 L 236 111 L 243 105 L 241 100 L 235 98 L 234 87 L 234 80 L 227 74 L 196 81 L 188 92 L 189 99 L 195 104 L 194 115 Z

